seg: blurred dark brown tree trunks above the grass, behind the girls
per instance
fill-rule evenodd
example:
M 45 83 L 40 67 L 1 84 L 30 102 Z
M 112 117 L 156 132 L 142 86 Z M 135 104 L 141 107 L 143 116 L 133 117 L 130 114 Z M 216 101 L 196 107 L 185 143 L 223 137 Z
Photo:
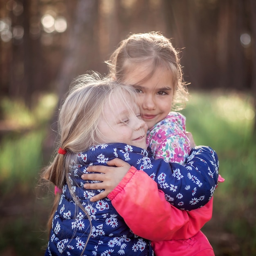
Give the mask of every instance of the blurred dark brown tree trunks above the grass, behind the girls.
M 61 98 L 75 76 L 106 74 L 129 33 L 153 30 L 180 49 L 190 90 L 256 95 L 254 0 L 2 0 L 0 95 L 29 107 L 42 92 Z

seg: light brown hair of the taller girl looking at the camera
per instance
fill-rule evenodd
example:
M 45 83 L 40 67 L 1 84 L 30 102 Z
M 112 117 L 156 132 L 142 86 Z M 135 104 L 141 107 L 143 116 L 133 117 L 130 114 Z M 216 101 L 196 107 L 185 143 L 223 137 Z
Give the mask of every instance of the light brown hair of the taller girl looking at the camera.
M 188 92 L 183 82 L 182 67 L 178 52 L 171 41 L 159 32 L 132 34 L 121 41 L 119 47 L 106 61 L 110 68 L 109 76 L 123 82 L 126 73 L 132 65 L 147 64 L 148 76 L 140 82 L 153 76 L 158 67 L 167 68 L 173 75 L 174 96 L 173 110 L 181 110 L 187 101 Z

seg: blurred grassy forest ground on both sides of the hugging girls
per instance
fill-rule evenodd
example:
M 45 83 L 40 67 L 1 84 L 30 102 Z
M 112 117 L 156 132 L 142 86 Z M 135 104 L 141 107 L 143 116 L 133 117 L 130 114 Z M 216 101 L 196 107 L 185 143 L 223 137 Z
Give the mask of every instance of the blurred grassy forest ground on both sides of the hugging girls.
M 49 126 L 46 124 L 55 105 L 53 95 L 42 97 L 33 111 L 20 102 L 11 103 L 7 99 L 1 102 L 5 119 L 9 124 L 15 123 L 17 129 L 0 141 L 4 212 L 0 222 L 0 254 L 43 255 L 41 247 L 47 243 L 44 228 L 52 195 L 44 194 L 45 198 L 40 195 L 38 199 L 35 187 L 44 164 L 42 146 Z M 203 228 L 204 233 L 216 256 L 256 255 L 256 139 L 252 98 L 236 92 L 192 92 L 182 113 L 195 143 L 216 150 L 220 174 L 226 179 L 216 189 L 213 219 Z

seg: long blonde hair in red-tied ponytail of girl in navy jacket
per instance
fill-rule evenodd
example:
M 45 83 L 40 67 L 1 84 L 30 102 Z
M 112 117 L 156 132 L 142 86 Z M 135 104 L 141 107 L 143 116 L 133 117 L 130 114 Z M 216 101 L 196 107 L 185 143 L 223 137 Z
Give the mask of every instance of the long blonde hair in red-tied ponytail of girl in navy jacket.
M 89 220 L 90 216 L 72 189 L 69 178 L 70 166 L 76 160 L 77 153 L 99 144 L 97 140 L 100 138 L 101 132 L 97 126 L 99 120 L 104 118 L 105 104 L 110 104 L 112 97 L 119 97 L 121 102 L 132 111 L 132 107 L 127 101 L 127 95 L 135 102 L 136 94 L 132 87 L 122 85 L 111 78 L 102 78 L 96 72 L 92 72 L 81 75 L 74 80 L 59 112 L 58 132 L 60 139 L 58 148 L 61 147 L 67 153 L 65 155 L 59 154 L 57 153 L 58 149 L 56 149 L 55 157 L 52 163 L 43 170 L 42 178 L 52 182 L 59 189 L 67 184 L 76 206 L 85 212 Z M 48 221 L 49 230 L 59 199 L 60 194 L 57 193 Z M 88 240 L 89 238 L 90 236 L 88 236 Z

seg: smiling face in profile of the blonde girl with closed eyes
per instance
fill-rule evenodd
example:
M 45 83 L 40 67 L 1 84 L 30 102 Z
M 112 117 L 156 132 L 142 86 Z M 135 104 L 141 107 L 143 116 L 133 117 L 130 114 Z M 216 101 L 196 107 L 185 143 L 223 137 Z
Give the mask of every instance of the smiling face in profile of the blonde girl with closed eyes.
M 102 144 L 121 142 L 146 149 L 148 127 L 141 119 L 139 107 L 132 102 L 128 94 L 126 99 L 131 109 L 128 109 L 115 94 L 111 99 L 112 107 L 106 103 L 103 117 L 98 124 L 102 134 L 98 141 Z

